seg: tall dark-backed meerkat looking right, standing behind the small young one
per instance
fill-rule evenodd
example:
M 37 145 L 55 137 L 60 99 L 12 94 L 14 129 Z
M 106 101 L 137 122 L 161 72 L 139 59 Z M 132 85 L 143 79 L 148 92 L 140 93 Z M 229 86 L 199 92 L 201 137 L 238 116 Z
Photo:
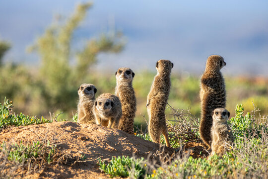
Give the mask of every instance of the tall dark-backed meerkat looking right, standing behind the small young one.
M 225 108 L 225 83 L 220 72 L 226 63 L 219 55 L 211 55 L 206 60 L 205 71 L 201 77 L 201 122 L 200 135 L 202 141 L 211 148 L 211 113 L 215 108 Z

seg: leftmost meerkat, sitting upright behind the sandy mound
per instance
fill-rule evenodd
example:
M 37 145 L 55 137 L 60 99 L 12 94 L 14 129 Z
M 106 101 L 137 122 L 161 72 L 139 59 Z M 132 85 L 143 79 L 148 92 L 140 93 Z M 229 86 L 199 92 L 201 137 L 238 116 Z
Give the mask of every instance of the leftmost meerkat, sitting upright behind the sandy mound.
M 82 84 L 78 88 L 79 102 L 77 105 L 79 123 L 95 123 L 93 106 L 97 89 L 92 84 Z

